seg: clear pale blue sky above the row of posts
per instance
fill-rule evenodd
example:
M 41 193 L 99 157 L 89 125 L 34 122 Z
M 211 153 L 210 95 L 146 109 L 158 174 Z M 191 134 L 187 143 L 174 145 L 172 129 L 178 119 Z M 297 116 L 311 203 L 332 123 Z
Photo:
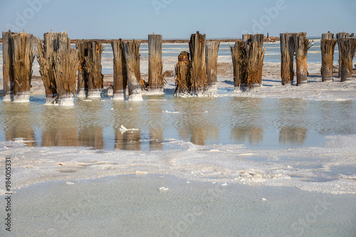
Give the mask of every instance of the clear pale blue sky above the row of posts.
M 43 38 L 241 38 L 242 33 L 356 32 L 356 0 L 0 0 L 0 30 Z

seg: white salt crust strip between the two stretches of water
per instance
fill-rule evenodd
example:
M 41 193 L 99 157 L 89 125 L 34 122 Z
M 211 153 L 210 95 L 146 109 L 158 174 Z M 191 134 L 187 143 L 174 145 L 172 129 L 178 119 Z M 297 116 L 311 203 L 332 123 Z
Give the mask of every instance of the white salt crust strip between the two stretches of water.
M 356 194 L 355 174 L 331 172 L 356 167 L 356 135 L 328 136 L 320 147 L 278 150 L 244 145 L 194 145 L 169 140 L 175 149 L 151 152 L 89 148 L 28 148 L 21 140 L 0 143 L 0 162 L 12 158 L 14 188 L 54 180 L 85 180 L 137 172 L 174 175 L 202 182 L 297 187 L 329 194 Z M 253 159 L 255 158 L 255 159 Z M 264 158 L 266 161 L 255 161 Z M 321 177 L 326 182 L 310 182 Z M 4 194 L 4 189 L 0 190 Z

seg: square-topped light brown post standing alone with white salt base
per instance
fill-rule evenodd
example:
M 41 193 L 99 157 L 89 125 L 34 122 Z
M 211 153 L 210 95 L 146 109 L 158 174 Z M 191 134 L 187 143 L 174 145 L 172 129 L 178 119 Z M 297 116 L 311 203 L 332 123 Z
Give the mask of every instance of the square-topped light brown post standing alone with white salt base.
M 148 35 L 148 90 L 163 94 L 162 35 Z

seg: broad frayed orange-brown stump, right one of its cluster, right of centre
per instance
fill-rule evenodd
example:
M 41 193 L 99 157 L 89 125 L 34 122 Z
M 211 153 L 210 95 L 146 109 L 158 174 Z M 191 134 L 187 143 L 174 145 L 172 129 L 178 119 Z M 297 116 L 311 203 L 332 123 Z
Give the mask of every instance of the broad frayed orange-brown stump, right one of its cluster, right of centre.
M 261 51 L 260 43 L 251 41 L 246 46 L 246 55 L 243 56 L 242 66 L 245 71 L 245 77 L 241 80 L 240 90 L 247 92 L 254 87 L 262 85 L 261 70 L 265 49 Z

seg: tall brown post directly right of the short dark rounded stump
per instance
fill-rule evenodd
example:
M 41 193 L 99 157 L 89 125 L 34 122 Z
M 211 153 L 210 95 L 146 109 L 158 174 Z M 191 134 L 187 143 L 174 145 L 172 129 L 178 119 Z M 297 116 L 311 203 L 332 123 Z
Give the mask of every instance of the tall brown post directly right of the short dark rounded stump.
M 192 65 L 192 67 L 190 68 L 190 92 L 194 95 L 204 93 L 204 90 L 207 86 L 205 45 L 205 34 L 201 35 L 199 31 L 197 31 L 197 33 L 191 35 L 189 41 L 189 50 Z

